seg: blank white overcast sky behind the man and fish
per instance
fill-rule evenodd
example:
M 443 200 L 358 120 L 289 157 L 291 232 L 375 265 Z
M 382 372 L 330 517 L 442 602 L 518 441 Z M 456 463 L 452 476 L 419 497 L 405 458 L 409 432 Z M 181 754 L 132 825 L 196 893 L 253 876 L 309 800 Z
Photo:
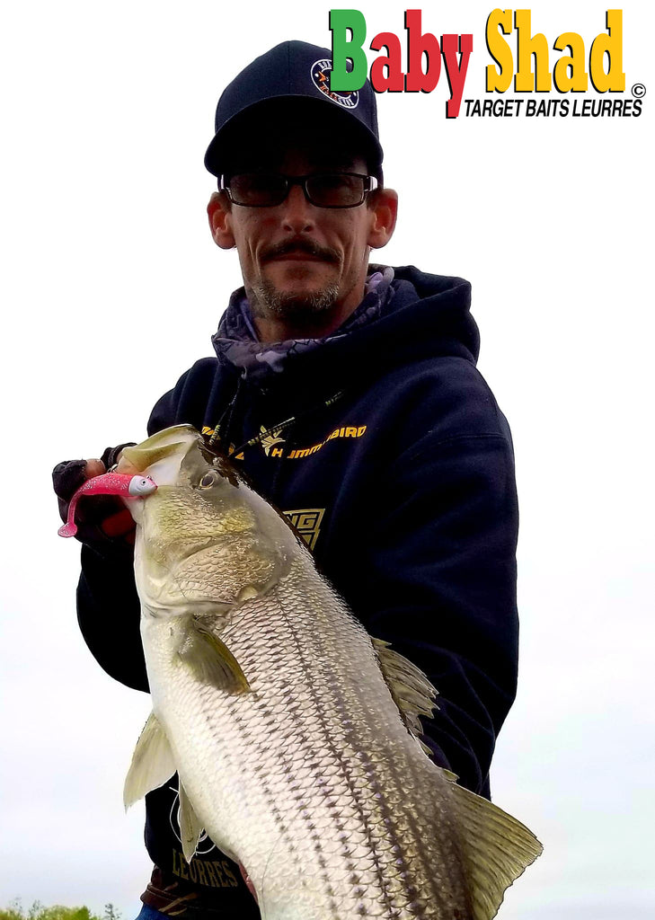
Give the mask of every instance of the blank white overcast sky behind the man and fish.
M 357 8 L 367 45 L 389 30 L 405 46 L 405 6 Z M 423 7 L 424 30 L 474 33 L 465 98 L 485 98 L 492 8 Z M 589 50 L 604 27 L 600 3 L 530 8 L 551 47 L 577 31 Z M 625 98 L 647 87 L 639 118 L 446 121 L 444 74 L 431 94 L 378 98 L 401 195 L 379 256 L 473 283 L 479 367 L 516 448 L 521 677 L 492 787 L 546 853 L 500 920 L 655 912 L 654 23 L 646 2 L 622 8 Z M 124 920 L 139 908 L 150 863 L 121 788 L 148 701 L 103 673 L 77 630 L 77 547 L 56 535 L 50 471 L 140 440 L 155 399 L 211 353 L 240 284 L 204 213 L 216 100 L 278 41 L 329 45 L 328 9 L 5 7 L 0 906 L 111 901 Z

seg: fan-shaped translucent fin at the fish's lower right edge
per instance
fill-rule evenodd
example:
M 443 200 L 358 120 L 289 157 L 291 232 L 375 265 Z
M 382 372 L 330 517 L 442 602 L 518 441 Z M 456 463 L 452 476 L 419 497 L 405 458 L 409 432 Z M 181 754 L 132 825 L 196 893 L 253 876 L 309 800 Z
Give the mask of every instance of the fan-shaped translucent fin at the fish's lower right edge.
M 442 771 L 445 772 L 445 771 Z M 538 857 L 543 846 L 532 831 L 452 779 L 454 811 L 461 828 L 465 875 L 471 892 L 473 920 L 491 920 L 505 890 Z

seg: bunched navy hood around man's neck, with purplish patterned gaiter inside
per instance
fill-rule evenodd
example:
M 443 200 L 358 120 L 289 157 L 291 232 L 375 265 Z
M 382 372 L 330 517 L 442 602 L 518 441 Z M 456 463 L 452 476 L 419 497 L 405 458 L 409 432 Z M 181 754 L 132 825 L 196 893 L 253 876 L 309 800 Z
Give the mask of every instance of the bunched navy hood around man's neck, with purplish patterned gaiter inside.
M 220 362 L 262 390 L 348 385 L 408 361 L 453 354 L 477 361 L 479 335 L 469 312 L 471 286 L 414 266 L 371 266 L 362 304 L 323 339 L 260 342 L 244 288 L 236 291 L 212 342 Z M 281 372 L 284 371 L 284 374 Z

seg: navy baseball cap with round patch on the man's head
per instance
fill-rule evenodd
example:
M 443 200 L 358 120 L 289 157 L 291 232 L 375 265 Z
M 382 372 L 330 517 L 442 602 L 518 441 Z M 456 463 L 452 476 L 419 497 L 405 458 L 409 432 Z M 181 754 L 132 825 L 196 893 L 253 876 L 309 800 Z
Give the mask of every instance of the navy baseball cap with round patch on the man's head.
M 332 52 L 306 41 L 282 41 L 249 63 L 218 100 L 215 134 L 205 154 L 205 167 L 213 176 L 224 173 L 238 144 L 239 126 L 255 116 L 259 107 L 274 99 L 314 99 L 317 106 L 331 106 L 333 111 L 343 113 L 344 125 L 352 131 L 355 142 L 363 144 L 369 169 L 382 184 L 383 151 L 373 87 L 366 80 L 362 89 L 353 92 L 332 91 L 331 70 Z

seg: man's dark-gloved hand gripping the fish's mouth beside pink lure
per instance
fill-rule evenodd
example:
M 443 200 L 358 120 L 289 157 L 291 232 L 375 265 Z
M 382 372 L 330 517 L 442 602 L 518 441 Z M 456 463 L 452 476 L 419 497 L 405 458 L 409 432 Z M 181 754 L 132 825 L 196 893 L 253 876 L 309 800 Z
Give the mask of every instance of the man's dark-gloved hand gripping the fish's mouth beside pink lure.
M 86 479 L 101 476 L 116 464 L 123 447 L 109 448 L 101 459 L 64 460 L 52 470 L 52 487 L 59 499 L 59 513 L 63 523 L 68 517 L 68 505 L 75 491 Z M 76 538 L 102 553 L 109 545 L 125 549 L 134 544 L 132 514 L 122 501 L 113 496 L 88 496 L 80 501 L 75 512 Z

